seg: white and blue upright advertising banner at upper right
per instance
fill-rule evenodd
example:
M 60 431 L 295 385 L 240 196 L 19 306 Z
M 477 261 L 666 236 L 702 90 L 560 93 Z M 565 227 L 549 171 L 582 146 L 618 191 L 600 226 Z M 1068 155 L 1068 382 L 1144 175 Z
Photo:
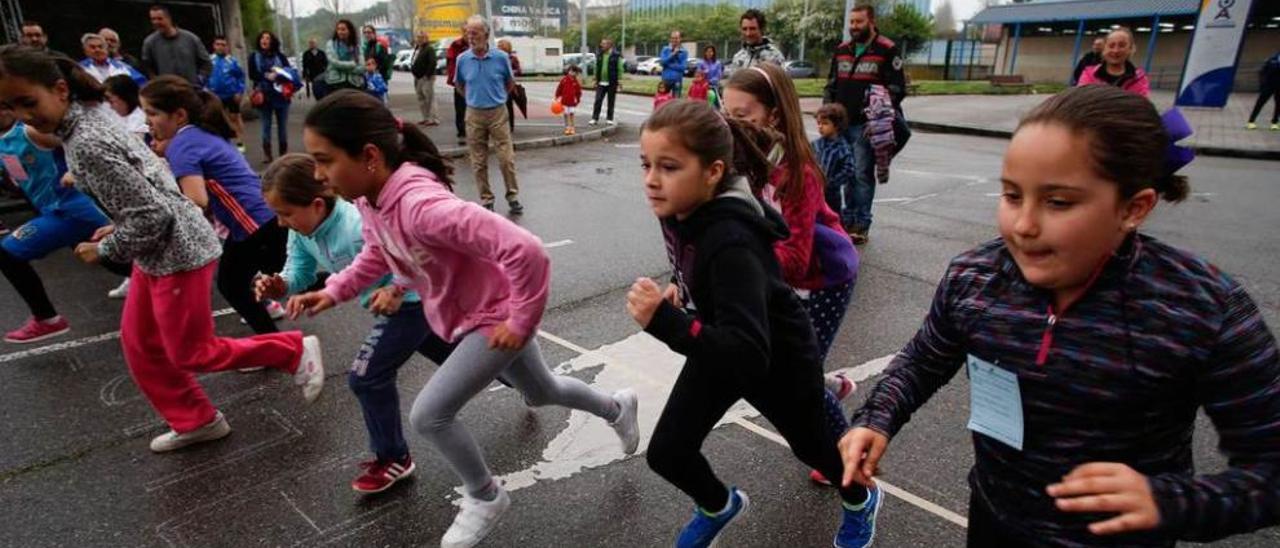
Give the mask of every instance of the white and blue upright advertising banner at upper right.
M 1179 106 L 1226 106 L 1253 0 L 1203 0 L 1187 55 Z

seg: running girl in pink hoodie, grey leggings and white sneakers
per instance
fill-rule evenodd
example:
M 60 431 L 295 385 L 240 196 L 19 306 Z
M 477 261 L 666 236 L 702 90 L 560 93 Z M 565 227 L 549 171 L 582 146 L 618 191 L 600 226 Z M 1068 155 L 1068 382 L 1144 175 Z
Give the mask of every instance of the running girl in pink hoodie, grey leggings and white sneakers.
M 466 497 L 442 547 L 471 547 L 511 506 L 457 412 L 499 375 L 532 406 L 559 405 L 608 420 L 631 455 L 640 443 L 636 396 L 612 397 L 543 362 L 534 335 L 547 307 L 550 260 L 534 234 L 452 192 L 452 169 L 430 138 L 367 93 L 339 91 L 307 114 L 302 141 L 316 179 L 351 200 L 365 247 L 325 289 L 289 300 L 315 315 L 388 273 L 413 289 L 431 330 L 457 350 L 413 401 L 410 423 L 462 479 Z

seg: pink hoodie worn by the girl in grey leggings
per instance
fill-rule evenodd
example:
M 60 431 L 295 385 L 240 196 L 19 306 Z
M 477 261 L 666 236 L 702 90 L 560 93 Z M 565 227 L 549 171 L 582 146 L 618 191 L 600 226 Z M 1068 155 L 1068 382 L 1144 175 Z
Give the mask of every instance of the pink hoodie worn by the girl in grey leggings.
M 388 271 L 422 297 L 431 330 L 453 342 L 490 333 L 509 319 L 515 334 L 538 329 L 550 287 L 543 243 L 476 204 L 458 198 L 431 172 L 406 163 L 383 187 L 379 204 L 356 200 L 365 247 L 329 277 L 325 294 L 352 300 Z

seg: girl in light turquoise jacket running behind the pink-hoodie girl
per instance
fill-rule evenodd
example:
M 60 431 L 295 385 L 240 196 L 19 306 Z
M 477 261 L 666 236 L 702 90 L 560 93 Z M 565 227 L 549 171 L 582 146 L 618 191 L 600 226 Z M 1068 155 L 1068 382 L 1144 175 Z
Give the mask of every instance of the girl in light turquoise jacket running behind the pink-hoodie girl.
M 289 228 L 289 252 L 280 274 L 257 279 L 259 300 L 306 292 L 316 283 L 317 269 L 342 271 L 365 247 L 360 211 L 334 196 L 314 174 L 315 160 L 303 154 L 280 156 L 262 174 L 262 195 L 280 224 Z M 413 458 L 401 428 L 397 371 L 413 352 L 444 364 L 453 351 L 453 344 L 431 333 L 417 293 L 390 282 L 387 274 L 360 292 L 360 306 L 378 319 L 347 375 L 374 452 L 372 460 L 360 463 L 362 472 L 351 483 L 361 493 L 380 493 L 413 474 Z

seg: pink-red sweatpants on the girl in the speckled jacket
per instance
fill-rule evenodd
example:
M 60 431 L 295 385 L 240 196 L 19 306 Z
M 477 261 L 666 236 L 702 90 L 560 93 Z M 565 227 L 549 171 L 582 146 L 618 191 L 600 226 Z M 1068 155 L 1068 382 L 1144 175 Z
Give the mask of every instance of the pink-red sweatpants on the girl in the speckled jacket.
M 264 366 L 293 373 L 302 332 L 247 338 L 214 335 L 211 289 L 218 261 L 154 277 L 137 266 L 120 318 L 120 344 L 133 382 L 174 431 L 198 429 L 216 410 L 193 373 Z

